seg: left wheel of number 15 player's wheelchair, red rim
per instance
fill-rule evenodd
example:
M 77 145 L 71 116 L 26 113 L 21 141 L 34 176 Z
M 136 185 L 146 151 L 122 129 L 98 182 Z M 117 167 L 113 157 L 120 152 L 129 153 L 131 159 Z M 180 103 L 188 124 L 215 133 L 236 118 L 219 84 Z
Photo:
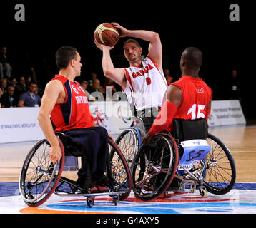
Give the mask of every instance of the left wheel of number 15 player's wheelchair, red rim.
M 132 162 L 132 190 L 142 200 L 162 195 L 172 182 L 179 161 L 177 144 L 170 135 L 158 134 L 139 149 Z

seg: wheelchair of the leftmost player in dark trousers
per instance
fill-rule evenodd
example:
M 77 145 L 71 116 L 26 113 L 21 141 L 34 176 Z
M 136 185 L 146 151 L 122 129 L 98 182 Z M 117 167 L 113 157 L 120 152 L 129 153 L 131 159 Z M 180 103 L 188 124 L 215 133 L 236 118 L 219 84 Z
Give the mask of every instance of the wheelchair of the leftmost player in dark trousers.
M 109 155 L 107 167 L 102 180 L 109 188 L 109 192 L 88 193 L 88 189 L 83 189 L 76 185 L 71 178 L 61 176 L 64 169 L 65 156 L 84 156 L 84 147 L 73 142 L 64 133 L 56 133 L 62 150 L 61 161 L 53 164 L 49 157 L 50 144 L 46 139 L 40 140 L 34 145 L 26 156 L 19 178 L 19 190 L 21 197 L 29 207 L 37 207 L 52 195 L 59 196 L 84 196 L 87 197 L 87 206 L 94 205 L 94 197 L 99 195 L 109 195 L 112 202 L 117 205 L 119 200 L 124 200 L 132 190 L 132 177 L 129 165 L 122 151 L 117 144 L 109 138 Z M 85 156 L 87 176 L 89 176 L 89 162 Z M 75 175 L 77 178 L 77 175 Z M 89 186 L 89 184 L 88 184 Z M 84 193 L 86 192 L 86 193 Z

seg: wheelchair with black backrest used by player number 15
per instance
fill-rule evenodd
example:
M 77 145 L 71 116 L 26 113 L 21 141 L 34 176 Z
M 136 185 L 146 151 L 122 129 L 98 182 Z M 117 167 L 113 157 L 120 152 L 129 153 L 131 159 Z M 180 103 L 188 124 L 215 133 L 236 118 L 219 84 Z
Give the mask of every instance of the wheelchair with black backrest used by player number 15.
M 173 135 L 173 136 L 172 136 Z M 199 189 L 223 195 L 235 184 L 235 162 L 230 150 L 207 131 L 205 118 L 173 120 L 173 132 L 154 135 L 132 160 L 132 190 L 142 200 L 152 200 L 168 191 Z

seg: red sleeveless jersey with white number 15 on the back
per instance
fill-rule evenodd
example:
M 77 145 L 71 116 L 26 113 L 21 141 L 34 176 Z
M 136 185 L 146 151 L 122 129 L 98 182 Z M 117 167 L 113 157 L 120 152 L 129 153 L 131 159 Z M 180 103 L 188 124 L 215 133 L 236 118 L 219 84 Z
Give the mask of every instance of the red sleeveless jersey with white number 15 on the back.
M 202 78 L 182 76 L 172 85 L 182 90 L 182 101 L 174 119 L 195 120 L 206 117 L 206 108 L 212 99 L 212 90 Z M 167 130 L 172 132 L 172 125 Z

